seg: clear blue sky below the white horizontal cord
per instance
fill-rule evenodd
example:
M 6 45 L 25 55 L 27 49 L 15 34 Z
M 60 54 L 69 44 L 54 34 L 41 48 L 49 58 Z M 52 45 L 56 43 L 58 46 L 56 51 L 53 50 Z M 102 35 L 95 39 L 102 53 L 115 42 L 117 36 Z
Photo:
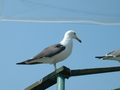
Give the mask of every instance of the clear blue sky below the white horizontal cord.
M 24 10 L 22 11 L 24 12 Z M 32 11 L 28 13 L 32 13 Z M 71 70 L 120 66 L 117 61 L 95 58 L 95 56 L 105 55 L 120 48 L 119 25 L 6 21 L 0 22 L 0 28 L 1 90 L 23 90 L 53 72 L 54 67 L 49 64 L 22 66 L 16 65 L 16 63 L 33 57 L 49 45 L 59 43 L 68 30 L 74 30 L 82 43 L 73 40 L 71 56 L 58 63 L 57 68 L 63 65 Z M 118 87 L 120 87 L 120 72 L 71 77 L 66 79 L 65 88 L 66 90 L 109 90 Z M 47 90 L 56 90 L 56 85 Z

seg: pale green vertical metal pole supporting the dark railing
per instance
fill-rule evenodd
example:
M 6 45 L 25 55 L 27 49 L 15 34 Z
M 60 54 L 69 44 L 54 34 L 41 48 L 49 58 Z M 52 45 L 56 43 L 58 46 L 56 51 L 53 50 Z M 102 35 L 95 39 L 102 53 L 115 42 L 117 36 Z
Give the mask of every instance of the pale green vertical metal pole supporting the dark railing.
M 61 74 L 57 76 L 57 90 L 65 90 L 65 77 Z

